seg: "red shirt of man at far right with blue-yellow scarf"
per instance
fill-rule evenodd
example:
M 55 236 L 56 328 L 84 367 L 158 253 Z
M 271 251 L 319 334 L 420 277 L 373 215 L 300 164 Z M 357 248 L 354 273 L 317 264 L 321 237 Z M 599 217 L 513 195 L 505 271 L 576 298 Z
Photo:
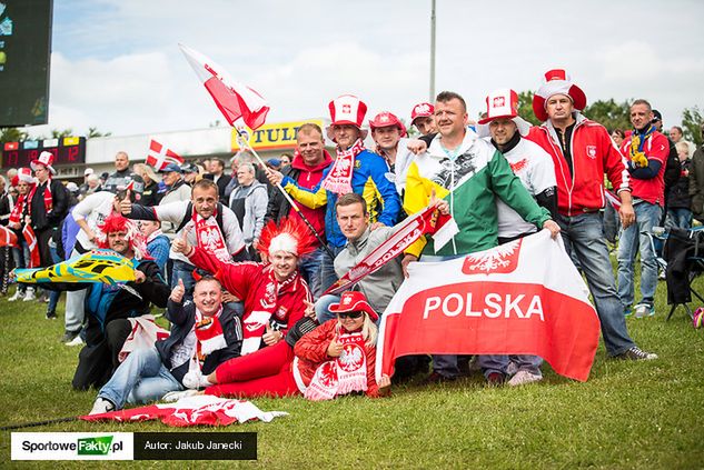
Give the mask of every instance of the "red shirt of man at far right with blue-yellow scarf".
M 621 152 L 624 156 L 628 154 L 631 148 L 631 140 L 633 134 L 623 141 Z M 652 204 L 665 204 L 665 167 L 667 166 L 667 157 L 670 156 L 670 141 L 665 136 L 655 131 L 645 141 L 643 146 L 643 152 L 648 160 L 657 160 L 661 164 L 660 171 L 655 178 L 638 179 L 631 177 L 631 187 L 633 188 L 633 197 L 643 199 Z

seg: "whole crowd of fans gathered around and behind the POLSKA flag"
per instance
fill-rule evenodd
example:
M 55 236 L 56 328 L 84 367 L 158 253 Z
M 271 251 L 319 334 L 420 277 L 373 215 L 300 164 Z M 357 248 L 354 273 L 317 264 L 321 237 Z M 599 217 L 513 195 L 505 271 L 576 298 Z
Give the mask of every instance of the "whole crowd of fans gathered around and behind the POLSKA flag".
M 413 108 L 417 139 L 385 111 L 368 122 L 374 147 L 367 149 L 366 104 L 341 96 L 329 104 L 329 128 L 297 130 L 294 154 L 264 164 L 240 151 L 229 174 L 221 159 L 156 171 L 130 167 L 118 152 L 115 172 L 88 168 L 82 184 L 62 184 L 52 178 L 53 157 L 43 152 L 31 168 L 0 178 L 0 219 L 20 244 L 0 253 L 1 293 L 12 267 L 49 267 L 95 248 L 135 260 L 139 274 L 129 284 L 139 296 L 100 284 L 54 283 L 38 292 L 20 283 L 8 298 L 47 301 L 46 316 L 56 319 L 58 296 L 68 291 L 61 341 L 85 344 L 73 386 L 101 388 L 93 412 L 202 388 L 314 400 L 349 391 L 378 396 L 390 379 L 374 378 L 376 323 L 409 262 L 463 257 L 547 229 L 562 234 L 587 279 L 608 354 L 655 359 L 631 339 L 625 317 L 655 314 L 658 273 L 646 238 L 653 227 L 688 229 L 704 219 L 704 149 L 684 141 L 680 127 L 664 133 L 660 112 L 644 99 L 631 107 L 629 130 L 607 131 L 582 116 L 585 106 L 582 89 L 552 70 L 533 102 L 539 127 L 517 116 L 513 90 L 488 93 L 478 122 L 468 119 L 459 94 L 443 92 Z M 335 154 L 325 149 L 324 132 Z M 428 204 L 455 218 L 459 233 L 452 243 L 435 250 L 422 239 L 355 292 L 324 296 Z M 617 246 L 617 283 L 607 241 Z M 170 337 L 121 361 L 129 320 L 148 313 L 150 303 L 167 309 Z M 353 350 L 360 352 L 353 358 Z M 467 359 L 434 357 L 428 380 L 454 380 L 472 367 Z M 353 362 L 358 367 L 350 372 Z M 396 379 L 428 372 L 428 362 L 403 358 Z M 541 363 L 532 356 L 474 358 L 492 386 L 539 381 Z M 337 368 L 333 391 L 319 377 L 324 366 Z

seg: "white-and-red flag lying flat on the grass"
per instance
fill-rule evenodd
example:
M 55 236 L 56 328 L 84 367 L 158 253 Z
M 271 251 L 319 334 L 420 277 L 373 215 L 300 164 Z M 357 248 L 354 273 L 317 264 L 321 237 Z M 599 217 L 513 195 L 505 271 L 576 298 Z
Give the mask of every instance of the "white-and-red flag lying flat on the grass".
M 261 411 L 246 400 L 197 394 L 181 398 L 175 403 L 149 404 L 79 418 L 85 421 L 119 422 L 160 420 L 165 424 L 184 428 L 188 426 L 228 426 L 234 422 L 244 423 L 252 420 L 269 422 L 274 418 L 287 414 L 284 411 Z

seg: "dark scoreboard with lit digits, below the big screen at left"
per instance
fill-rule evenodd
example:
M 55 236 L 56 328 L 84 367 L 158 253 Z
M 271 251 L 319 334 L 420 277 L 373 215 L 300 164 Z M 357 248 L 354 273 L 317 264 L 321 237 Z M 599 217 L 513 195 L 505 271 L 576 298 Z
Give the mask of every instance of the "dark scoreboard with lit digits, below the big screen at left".
M 2 168 L 29 167 L 41 152 L 53 154 L 53 166 L 86 162 L 86 138 L 62 137 L 59 139 L 6 142 L 2 148 Z

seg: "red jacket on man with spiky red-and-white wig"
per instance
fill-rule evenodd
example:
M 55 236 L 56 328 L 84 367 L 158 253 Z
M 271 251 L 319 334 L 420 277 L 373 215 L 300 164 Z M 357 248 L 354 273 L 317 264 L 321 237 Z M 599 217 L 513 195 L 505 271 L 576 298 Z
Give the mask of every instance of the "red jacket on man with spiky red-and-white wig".
M 266 298 L 266 288 L 271 282 L 277 286 L 276 307 L 271 320 L 279 326 L 279 330 L 284 334 L 304 317 L 306 311 L 304 300 L 313 301 L 308 284 L 300 278 L 298 271 L 291 278 L 279 283 L 274 278 L 270 264 L 258 262 L 225 263 L 218 260 L 215 254 L 198 247 L 194 247 L 188 259 L 196 267 L 214 272 L 225 289 L 232 296 L 242 299 L 245 302 L 242 321 L 247 320 L 252 310 L 261 308 L 260 302 Z

